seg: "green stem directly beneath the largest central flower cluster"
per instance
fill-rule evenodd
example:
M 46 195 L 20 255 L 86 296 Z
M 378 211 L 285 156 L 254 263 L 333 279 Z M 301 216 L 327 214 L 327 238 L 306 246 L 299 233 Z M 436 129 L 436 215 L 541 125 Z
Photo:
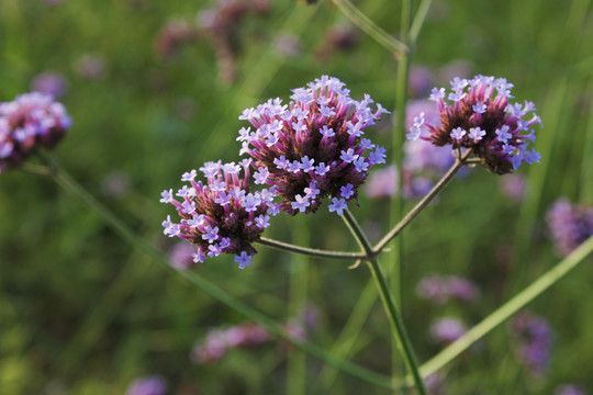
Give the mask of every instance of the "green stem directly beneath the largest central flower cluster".
M 383 307 L 385 308 L 385 313 L 391 323 L 395 339 L 400 342 L 400 346 L 402 348 L 405 364 L 409 371 L 412 373 L 412 376 L 414 379 L 414 385 L 416 386 L 418 394 L 426 395 L 426 388 L 424 387 L 424 382 L 422 381 L 422 376 L 419 374 L 418 364 L 416 362 L 416 357 L 414 354 L 412 342 L 407 337 L 405 326 L 402 318 L 400 317 L 400 313 L 398 311 L 398 307 L 395 306 L 393 296 L 391 295 L 387 278 L 381 270 L 381 264 L 374 257 L 372 247 L 367 239 L 365 233 L 360 228 L 360 225 L 358 225 L 356 218 L 348 210 L 344 212 L 344 221 L 348 225 L 348 228 L 351 230 L 353 236 L 355 236 L 358 244 L 362 246 L 362 249 L 367 253 L 367 262 L 369 263 L 369 269 L 377 284 L 377 289 L 379 290 L 379 294 L 381 295 L 381 301 L 383 302 Z

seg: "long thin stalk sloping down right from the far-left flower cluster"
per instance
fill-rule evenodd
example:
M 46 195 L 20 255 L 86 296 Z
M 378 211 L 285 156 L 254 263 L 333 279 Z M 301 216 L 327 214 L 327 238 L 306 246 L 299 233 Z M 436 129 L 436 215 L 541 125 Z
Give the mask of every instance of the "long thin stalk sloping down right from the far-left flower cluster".
M 90 208 L 92 208 L 97 214 L 99 214 L 104 221 L 107 221 L 109 225 L 125 241 L 127 241 L 131 246 L 137 248 L 139 251 L 144 252 L 155 262 L 159 263 L 164 269 L 175 272 L 177 275 L 183 278 L 186 281 L 201 289 L 203 292 L 219 300 L 226 306 L 235 309 L 236 312 L 243 314 L 249 319 L 253 319 L 257 321 L 258 324 L 265 326 L 272 335 L 291 343 L 296 349 L 303 352 L 306 352 L 307 354 L 316 359 L 320 359 L 324 361 L 325 363 L 336 369 L 339 369 L 340 371 L 354 377 L 360 379 L 367 383 L 371 383 L 373 385 L 392 390 L 392 391 L 402 391 L 402 387 L 399 385 L 399 383 L 393 383 L 391 379 L 385 377 L 384 375 L 374 373 L 372 371 L 369 371 L 362 366 L 359 366 L 355 363 L 343 360 L 340 358 L 336 358 L 327 353 L 322 348 L 311 342 L 295 341 L 290 336 L 288 336 L 284 332 L 284 330 L 278 325 L 278 323 L 276 323 L 273 319 L 269 318 L 268 316 L 260 313 L 259 311 L 248 306 L 247 304 L 243 303 L 242 301 L 226 293 L 224 290 L 211 283 L 210 281 L 202 278 L 201 275 L 191 271 L 181 271 L 181 270 L 174 269 L 172 267 L 169 266 L 168 259 L 165 256 L 163 256 L 159 251 L 157 251 L 148 241 L 146 241 L 144 238 L 138 236 L 136 233 L 134 233 L 116 215 L 114 215 L 105 206 L 99 203 L 94 199 L 94 196 L 92 196 L 79 183 L 77 183 L 72 178 L 70 178 L 65 171 L 63 171 L 61 169 L 57 169 L 57 171 L 52 173 L 52 177 L 68 193 L 80 199 Z

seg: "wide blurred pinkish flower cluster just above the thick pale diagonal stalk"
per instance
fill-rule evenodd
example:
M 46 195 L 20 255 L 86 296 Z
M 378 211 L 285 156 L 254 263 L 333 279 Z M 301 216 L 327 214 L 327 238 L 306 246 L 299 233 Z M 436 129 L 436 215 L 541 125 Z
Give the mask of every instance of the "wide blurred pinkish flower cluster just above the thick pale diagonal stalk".
M 470 280 L 458 275 L 427 275 L 416 285 L 416 294 L 434 304 L 441 305 L 451 298 L 473 302 L 480 297 L 480 289 Z

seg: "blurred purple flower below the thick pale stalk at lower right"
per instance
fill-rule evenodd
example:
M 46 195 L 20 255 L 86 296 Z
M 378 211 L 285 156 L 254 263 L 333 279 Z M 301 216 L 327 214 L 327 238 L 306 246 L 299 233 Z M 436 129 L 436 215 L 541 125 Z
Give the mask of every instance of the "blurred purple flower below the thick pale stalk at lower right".
M 512 330 L 518 340 L 515 352 L 534 375 L 544 375 L 550 361 L 553 340 L 548 320 L 523 311 L 513 317 Z

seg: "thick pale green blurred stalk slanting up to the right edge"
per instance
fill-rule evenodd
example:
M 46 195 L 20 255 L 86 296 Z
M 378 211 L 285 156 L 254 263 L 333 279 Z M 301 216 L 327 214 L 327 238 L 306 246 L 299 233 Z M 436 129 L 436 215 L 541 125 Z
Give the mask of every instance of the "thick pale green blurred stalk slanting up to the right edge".
M 515 297 L 511 298 L 491 315 L 485 317 L 480 324 L 471 328 L 466 335 L 440 351 L 428 362 L 424 363 L 421 366 L 422 375 L 426 377 L 452 361 L 475 341 L 483 338 L 495 327 L 508 319 L 513 314 L 517 313 L 529 302 L 556 284 L 568 272 L 582 262 L 591 252 L 593 252 L 593 236 L 586 239 L 579 248 L 572 251 L 558 264 L 540 275 L 539 279 L 532 283 L 532 285 L 519 292 L 517 295 L 515 295 Z

